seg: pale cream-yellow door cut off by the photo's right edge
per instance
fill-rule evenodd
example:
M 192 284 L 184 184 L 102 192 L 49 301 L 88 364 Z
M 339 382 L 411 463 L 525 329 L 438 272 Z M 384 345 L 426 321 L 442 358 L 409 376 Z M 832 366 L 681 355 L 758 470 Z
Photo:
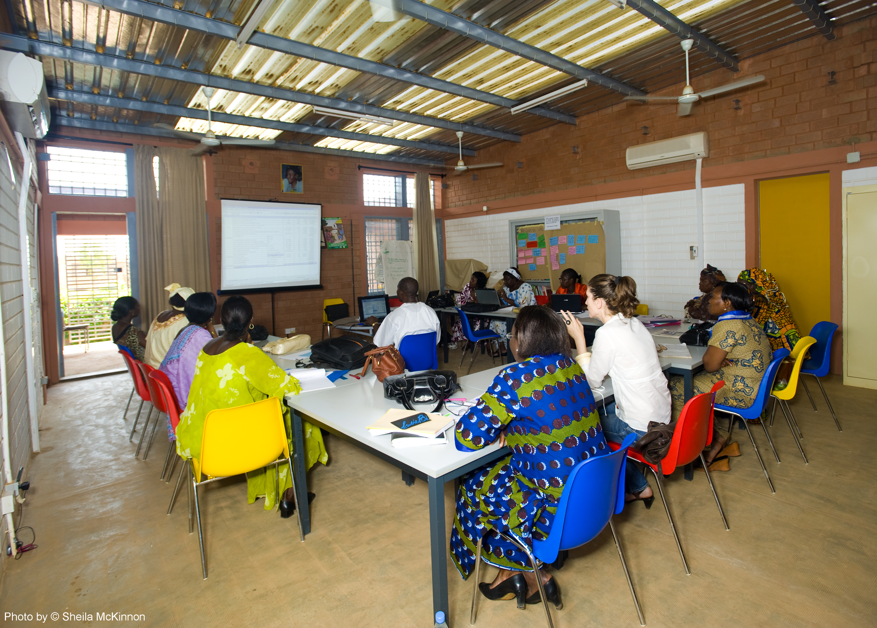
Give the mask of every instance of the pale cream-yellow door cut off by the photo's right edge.
M 877 388 L 877 191 L 846 194 L 845 231 L 844 384 Z

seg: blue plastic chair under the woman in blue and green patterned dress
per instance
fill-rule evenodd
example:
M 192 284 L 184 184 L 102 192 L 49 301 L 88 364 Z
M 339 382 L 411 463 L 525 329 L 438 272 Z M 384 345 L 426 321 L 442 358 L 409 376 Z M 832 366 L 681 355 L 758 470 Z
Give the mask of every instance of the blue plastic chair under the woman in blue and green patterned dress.
M 618 550 L 618 558 L 621 559 L 624 576 L 627 578 L 627 586 L 631 589 L 633 603 L 637 607 L 639 625 L 645 625 L 643 611 L 639 608 L 637 592 L 633 589 L 631 575 L 627 570 L 627 562 L 624 561 L 621 542 L 618 540 L 618 534 L 612 523 L 613 513 L 618 514 L 624 510 L 624 465 L 627 463 L 625 456 L 627 448 L 636 439 L 636 434 L 628 434 L 617 451 L 607 455 L 597 455 L 575 465 L 567 478 L 567 485 L 560 495 L 560 504 L 554 515 L 554 522 L 551 526 L 551 532 L 548 533 L 548 538 L 545 540 L 533 539 L 532 550 L 521 545 L 508 534 L 492 528 L 489 523 L 486 524 L 484 532 L 488 533 L 490 529 L 494 529 L 504 540 L 514 543 L 524 554 L 527 554 L 533 569 L 538 572 L 539 562 L 549 564 L 556 561 L 561 550 L 573 549 L 594 540 L 606 527 L 606 524 L 609 524 L 612 538 L 615 539 L 615 547 Z M 475 624 L 475 600 L 478 597 L 478 571 L 481 566 L 482 540 L 483 537 L 478 540 L 475 553 L 472 615 L 469 619 L 469 624 L 472 625 Z M 548 610 L 548 601 L 545 598 L 545 589 L 542 586 L 542 579 L 538 575 L 536 582 L 538 582 L 542 603 L 545 605 L 548 626 L 553 628 L 551 612 Z M 562 604 L 558 606 L 558 610 L 561 608 L 563 608 Z

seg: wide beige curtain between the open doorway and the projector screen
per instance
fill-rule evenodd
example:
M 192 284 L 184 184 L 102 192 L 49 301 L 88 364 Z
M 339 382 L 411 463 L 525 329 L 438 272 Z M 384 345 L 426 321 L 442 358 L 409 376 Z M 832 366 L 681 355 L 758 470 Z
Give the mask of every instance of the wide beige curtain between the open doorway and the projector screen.
M 156 198 L 153 158 L 159 158 Z M 210 292 L 207 209 L 201 158 L 179 148 L 134 147 L 142 327 L 168 308 L 164 286 Z

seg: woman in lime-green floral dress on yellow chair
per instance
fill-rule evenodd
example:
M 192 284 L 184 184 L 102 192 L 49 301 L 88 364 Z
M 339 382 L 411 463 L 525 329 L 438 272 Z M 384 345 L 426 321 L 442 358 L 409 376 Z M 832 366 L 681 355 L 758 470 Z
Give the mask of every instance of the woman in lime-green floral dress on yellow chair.
M 183 458 L 201 455 L 204 419 L 211 410 L 245 406 L 268 397 L 280 399 L 283 423 L 290 439 L 289 408 L 283 404 L 283 398 L 301 392 L 298 380 L 287 375 L 261 349 L 247 342 L 248 330 L 253 327 L 253 306 L 249 300 L 238 296 L 226 300 L 222 307 L 222 322 L 225 334 L 207 342 L 198 354 L 189 403 L 176 428 L 177 453 Z M 303 432 L 307 468 L 317 461 L 328 462 L 320 430 L 304 422 Z M 290 439 L 289 450 L 292 448 Z M 246 474 L 246 497 L 250 504 L 258 497 L 265 497 L 265 510 L 273 510 L 278 505 L 276 473 L 275 465 L 270 465 Z M 291 487 L 289 468 L 281 466 L 281 494 L 287 489 L 291 493 Z M 282 500 L 292 503 L 291 495 L 284 495 Z M 291 511 L 283 514 L 289 516 Z

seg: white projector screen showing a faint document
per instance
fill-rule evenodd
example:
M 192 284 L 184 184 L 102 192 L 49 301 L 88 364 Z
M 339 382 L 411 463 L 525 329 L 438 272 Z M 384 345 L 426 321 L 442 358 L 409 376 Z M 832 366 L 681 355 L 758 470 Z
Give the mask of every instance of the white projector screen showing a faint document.
M 320 286 L 320 214 L 313 203 L 222 200 L 220 292 Z

